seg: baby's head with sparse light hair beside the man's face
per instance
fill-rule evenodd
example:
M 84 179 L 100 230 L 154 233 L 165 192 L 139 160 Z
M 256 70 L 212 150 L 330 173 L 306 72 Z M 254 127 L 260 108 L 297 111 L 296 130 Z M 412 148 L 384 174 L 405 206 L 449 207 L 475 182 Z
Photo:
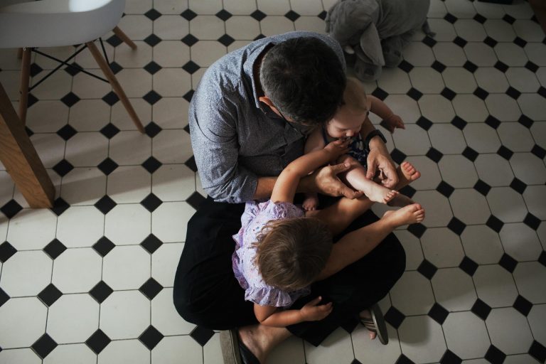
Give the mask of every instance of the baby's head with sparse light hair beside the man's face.
M 326 132 L 333 138 L 352 138 L 362 127 L 368 117 L 366 92 L 359 80 L 347 77 L 347 85 L 343 92 L 343 103 L 333 118 L 326 122 Z

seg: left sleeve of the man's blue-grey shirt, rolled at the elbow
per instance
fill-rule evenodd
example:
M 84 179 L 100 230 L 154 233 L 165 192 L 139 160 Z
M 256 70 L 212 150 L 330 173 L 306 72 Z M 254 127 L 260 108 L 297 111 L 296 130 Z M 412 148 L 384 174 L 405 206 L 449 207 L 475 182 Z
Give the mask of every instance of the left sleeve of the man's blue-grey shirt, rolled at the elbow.
M 191 144 L 203 188 L 219 202 L 251 200 L 255 173 L 238 163 L 237 107 L 208 80 L 193 95 L 189 109 Z

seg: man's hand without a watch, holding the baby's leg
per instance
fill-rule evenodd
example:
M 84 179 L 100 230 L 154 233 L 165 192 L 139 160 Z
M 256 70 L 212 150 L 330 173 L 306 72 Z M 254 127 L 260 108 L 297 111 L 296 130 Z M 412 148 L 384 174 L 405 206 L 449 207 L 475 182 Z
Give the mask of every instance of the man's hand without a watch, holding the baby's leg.
M 329 196 L 345 196 L 350 199 L 358 198 L 363 195 L 363 192 L 353 191 L 352 188 L 348 188 L 337 176 L 339 173 L 348 171 L 350 168 L 351 166 L 348 163 L 325 166 L 314 171 L 306 178 L 312 179 L 314 191 L 316 192 Z

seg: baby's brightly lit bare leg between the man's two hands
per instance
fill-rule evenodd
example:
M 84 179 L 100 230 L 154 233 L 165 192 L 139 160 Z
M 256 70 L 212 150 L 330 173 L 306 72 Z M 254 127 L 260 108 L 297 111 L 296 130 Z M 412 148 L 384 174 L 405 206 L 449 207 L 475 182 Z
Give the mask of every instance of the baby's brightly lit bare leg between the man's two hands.
M 341 156 L 338 163 L 349 163 L 352 168 L 345 173 L 345 180 L 357 191 L 363 193 L 372 201 L 388 203 L 398 194 L 395 190 L 390 190 L 381 186 L 372 180 L 366 178 L 366 170 L 357 160 L 351 156 Z

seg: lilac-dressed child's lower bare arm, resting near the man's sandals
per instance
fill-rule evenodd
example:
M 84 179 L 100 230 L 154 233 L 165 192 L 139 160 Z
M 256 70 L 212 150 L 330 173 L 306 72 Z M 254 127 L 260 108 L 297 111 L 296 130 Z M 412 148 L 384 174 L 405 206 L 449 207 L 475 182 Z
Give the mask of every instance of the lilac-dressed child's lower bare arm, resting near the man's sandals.
M 316 297 L 299 310 L 277 311 L 274 306 L 254 304 L 256 319 L 266 326 L 286 327 L 303 321 L 319 321 L 332 311 L 332 303 L 321 304 L 321 297 Z

